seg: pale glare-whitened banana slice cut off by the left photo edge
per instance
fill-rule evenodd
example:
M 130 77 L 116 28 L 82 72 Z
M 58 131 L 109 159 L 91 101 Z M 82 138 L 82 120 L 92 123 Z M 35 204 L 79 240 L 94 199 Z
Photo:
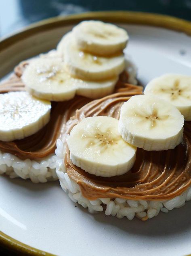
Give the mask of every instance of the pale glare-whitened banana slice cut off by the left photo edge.
M 28 137 L 50 120 L 50 101 L 36 99 L 26 92 L 0 94 L 0 140 Z

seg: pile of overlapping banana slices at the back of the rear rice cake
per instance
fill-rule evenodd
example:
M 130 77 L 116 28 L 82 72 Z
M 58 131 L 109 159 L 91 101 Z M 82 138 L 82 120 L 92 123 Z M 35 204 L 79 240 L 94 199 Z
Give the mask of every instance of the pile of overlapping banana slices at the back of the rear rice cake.
M 54 58 L 32 60 L 22 80 L 31 95 L 49 101 L 104 97 L 125 69 L 127 41 L 127 32 L 115 25 L 81 22 L 63 37 Z

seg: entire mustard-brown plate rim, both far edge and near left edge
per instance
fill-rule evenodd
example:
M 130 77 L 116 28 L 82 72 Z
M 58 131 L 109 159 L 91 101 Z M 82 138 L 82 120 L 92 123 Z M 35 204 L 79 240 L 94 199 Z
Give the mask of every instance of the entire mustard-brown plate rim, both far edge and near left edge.
M 19 30 L 13 34 L 3 37 L 0 40 L 0 52 L 8 46 L 21 41 L 23 38 L 30 37 L 33 34 L 40 33 L 44 30 L 58 28 L 65 25 L 73 25 L 82 20 L 87 19 L 100 19 L 105 22 L 118 22 L 125 24 L 147 25 L 160 28 L 166 28 L 177 32 L 183 32 L 191 36 L 191 22 L 185 19 L 176 18 L 169 15 L 162 15 L 147 12 L 134 12 L 134 11 L 98 11 L 86 12 L 67 16 L 57 16 L 48 19 L 43 19 L 40 22 L 35 22 L 24 29 Z M 0 245 L 2 248 L 11 250 L 12 252 L 19 252 L 22 254 L 30 254 L 34 256 L 53 256 L 48 252 L 36 249 L 26 245 L 18 240 L 6 235 L 0 231 Z M 191 256 L 191 254 L 187 255 Z

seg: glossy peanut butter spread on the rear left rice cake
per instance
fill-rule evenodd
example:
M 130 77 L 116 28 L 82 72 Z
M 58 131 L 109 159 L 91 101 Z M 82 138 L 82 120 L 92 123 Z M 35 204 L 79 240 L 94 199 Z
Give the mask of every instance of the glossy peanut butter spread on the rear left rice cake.
M 0 93 L 25 90 L 21 75 L 27 65 L 28 62 L 23 61 L 20 65 L 15 67 L 14 74 L 10 76 L 9 80 L 0 84 Z M 120 76 L 120 80 L 115 87 L 116 92 L 128 88 L 128 85 L 124 82 L 127 79 L 127 73 L 123 73 Z M 57 139 L 61 136 L 62 129 L 65 127 L 66 122 L 71 116 L 74 116 L 77 109 L 80 109 L 90 101 L 91 99 L 86 97 L 76 96 L 70 101 L 52 102 L 50 121 L 45 127 L 22 140 L 15 140 L 13 142 L 0 141 L 0 151 L 11 153 L 20 159 L 29 158 L 36 160 L 54 153 Z

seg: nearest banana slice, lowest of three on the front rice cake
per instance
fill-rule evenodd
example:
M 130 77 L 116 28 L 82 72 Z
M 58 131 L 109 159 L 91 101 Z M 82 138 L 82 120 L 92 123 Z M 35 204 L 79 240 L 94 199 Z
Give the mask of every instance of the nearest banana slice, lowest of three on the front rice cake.
M 73 164 L 103 177 L 128 172 L 135 161 L 136 148 L 118 133 L 118 120 L 108 116 L 84 118 L 67 137 Z

